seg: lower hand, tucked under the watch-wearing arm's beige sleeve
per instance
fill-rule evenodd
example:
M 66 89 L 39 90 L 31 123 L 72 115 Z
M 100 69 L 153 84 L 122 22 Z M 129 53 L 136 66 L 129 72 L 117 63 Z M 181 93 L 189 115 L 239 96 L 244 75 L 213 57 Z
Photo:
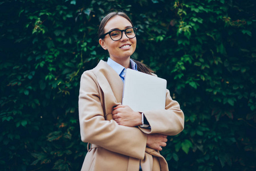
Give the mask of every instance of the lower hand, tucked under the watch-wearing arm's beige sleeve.
M 166 146 L 167 136 L 161 135 L 159 133 L 156 134 L 148 134 L 147 135 L 147 146 L 149 148 L 155 150 L 162 150 L 162 146 Z

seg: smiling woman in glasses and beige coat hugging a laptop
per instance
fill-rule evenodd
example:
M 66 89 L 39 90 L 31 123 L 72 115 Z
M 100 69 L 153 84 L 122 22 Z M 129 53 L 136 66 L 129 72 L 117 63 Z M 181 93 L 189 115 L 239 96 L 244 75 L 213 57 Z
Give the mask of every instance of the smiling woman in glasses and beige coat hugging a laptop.
M 125 13 L 109 13 L 99 26 L 99 43 L 108 62 L 85 71 L 79 92 L 81 139 L 88 143 L 82 170 L 168 170 L 159 150 L 168 135 L 184 128 L 184 114 L 166 90 L 164 110 L 133 111 L 121 105 L 125 68 L 151 74 L 130 56 L 136 48 L 136 28 Z M 138 97 L 139 98 L 139 97 Z M 150 127 L 141 126 L 142 115 Z

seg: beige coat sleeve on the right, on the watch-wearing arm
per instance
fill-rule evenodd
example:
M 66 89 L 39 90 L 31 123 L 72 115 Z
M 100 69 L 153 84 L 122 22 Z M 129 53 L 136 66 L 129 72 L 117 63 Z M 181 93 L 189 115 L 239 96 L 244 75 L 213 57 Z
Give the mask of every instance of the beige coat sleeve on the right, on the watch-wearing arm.
M 161 133 L 163 135 L 177 135 L 184 129 L 184 113 L 177 101 L 172 100 L 166 89 L 165 109 L 143 112 L 151 129 L 140 128 L 144 133 Z

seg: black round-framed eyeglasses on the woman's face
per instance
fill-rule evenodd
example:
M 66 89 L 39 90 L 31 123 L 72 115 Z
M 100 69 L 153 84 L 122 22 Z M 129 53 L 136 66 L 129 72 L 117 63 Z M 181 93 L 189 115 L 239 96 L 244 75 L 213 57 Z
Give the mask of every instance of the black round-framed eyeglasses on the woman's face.
M 135 38 L 137 30 L 138 30 L 138 28 L 136 28 L 136 27 L 129 27 L 124 30 L 116 29 L 116 30 L 112 30 L 112 31 L 109 31 L 109 32 L 103 34 L 100 38 L 103 39 L 107 34 L 109 34 L 110 38 L 113 41 L 117 41 L 122 38 L 123 32 L 124 32 L 125 35 L 127 36 L 127 38 L 132 39 L 132 38 Z

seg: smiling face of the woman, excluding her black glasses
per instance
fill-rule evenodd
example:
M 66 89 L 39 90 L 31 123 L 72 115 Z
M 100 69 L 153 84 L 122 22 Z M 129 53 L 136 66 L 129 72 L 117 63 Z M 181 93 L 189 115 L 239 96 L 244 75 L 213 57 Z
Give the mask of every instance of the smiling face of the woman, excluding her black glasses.
M 132 27 L 132 24 L 124 17 L 116 15 L 109 19 L 104 30 L 108 32 L 113 29 L 124 30 L 128 27 Z M 123 63 L 125 60 L 129 60 L 136 49 L 136 37 L 129 39 L 124 32 L 120 40 L 113 41 L 108 34 L 104 39 L 100 39 L 99 43 L 104 50 L 108 50 L 109 57 L 117 63 Z

